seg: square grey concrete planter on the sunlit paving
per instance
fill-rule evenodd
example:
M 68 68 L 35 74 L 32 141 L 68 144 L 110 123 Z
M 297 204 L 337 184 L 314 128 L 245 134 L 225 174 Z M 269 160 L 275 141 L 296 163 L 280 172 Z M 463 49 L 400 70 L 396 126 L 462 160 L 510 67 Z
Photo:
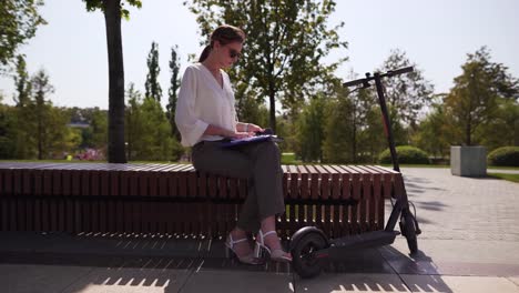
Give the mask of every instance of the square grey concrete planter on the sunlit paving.
M 458 176 L 486 176 L 485 146 L 450 146 L 450 172 Z

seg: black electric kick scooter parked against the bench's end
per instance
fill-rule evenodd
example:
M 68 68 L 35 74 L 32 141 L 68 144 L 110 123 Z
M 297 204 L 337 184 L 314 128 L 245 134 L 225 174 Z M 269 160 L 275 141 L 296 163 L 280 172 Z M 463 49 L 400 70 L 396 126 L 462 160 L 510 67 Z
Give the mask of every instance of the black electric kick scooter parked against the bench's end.
M 386 105 L 386 98 L 384 97 L 384 88 L 381 79 L 390 78 L 398 74 L 411 72 L 413 67 L 401 68 L 398 70 L 388 71 L 386 73 L 376 72 L 373 75 L 366 73 L 366 78 L 345 82 L 343 87 L 362 85 L 358 89 L 366 89 L 370 87 L 370 81 L 375 81 L 377 89 L 378 102 L 383 114 L 385 134 L 389 144 L 391 153 L 393 169 L 400 172 L 398 164 L 398 156 L 395 149 L 395 141 L 393 137 L 391 124 L 389 123 L 389 114 Z M 301 277 L 313 277 L 320 273 L 322 266 L 326 259 L 333 257 L 340 251 L 350 251 L 355 249 L 366 249 L 391 244 L 396 236 L 400 234 L 407 239 L 410 253 L 418 252 L 417 235 L 421 233 L 416 216 L 409 210 L 409 202 L 407 199 L 406 189 L 404 185 L 404 178 L 397 176 L 398 185 L 397 191 L 400 194 L 391 194 L 395 199 L 393 211 L 386 223 L 386 228 L 381 231 L 367 232 L 358 235 L 349 235 L 339 239 L 328 239 L 326 234 L 315 226 L 305 226 L 296 231 L 292 236 L 289 247 L 292 253 L 292 266 Z M 393 203 L 393 200 L 391 200 Z M 345 203 L 345 205 L 350 203 Z M 416 214 L 416 211 L 415 211 Z M 396 223 L 399 221 L 400 232 L 395 231 Z

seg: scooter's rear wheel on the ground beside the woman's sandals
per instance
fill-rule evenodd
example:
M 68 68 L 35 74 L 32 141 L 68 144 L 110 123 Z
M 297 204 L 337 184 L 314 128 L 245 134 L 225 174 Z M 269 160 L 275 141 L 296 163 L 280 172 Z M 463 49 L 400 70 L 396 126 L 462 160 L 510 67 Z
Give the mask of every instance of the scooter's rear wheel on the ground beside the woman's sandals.
M 294 271 L 303 277 L 313 277 L 320 273 L 320 263 L 315 253 L 327 247 L 327 241 L 323 235 L 311 232 L 294 243 L 292 250 L 292 266 Z

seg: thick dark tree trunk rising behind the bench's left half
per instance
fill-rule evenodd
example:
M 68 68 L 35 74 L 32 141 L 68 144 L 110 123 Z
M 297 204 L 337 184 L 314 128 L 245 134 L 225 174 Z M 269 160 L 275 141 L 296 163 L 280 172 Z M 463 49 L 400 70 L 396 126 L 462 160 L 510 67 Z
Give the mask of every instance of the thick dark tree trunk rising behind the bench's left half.
M 104 1 L 109 57 L 109 163 L 126 163 L 124 152 L 124 64 L 121 38 L 121 0 Z

